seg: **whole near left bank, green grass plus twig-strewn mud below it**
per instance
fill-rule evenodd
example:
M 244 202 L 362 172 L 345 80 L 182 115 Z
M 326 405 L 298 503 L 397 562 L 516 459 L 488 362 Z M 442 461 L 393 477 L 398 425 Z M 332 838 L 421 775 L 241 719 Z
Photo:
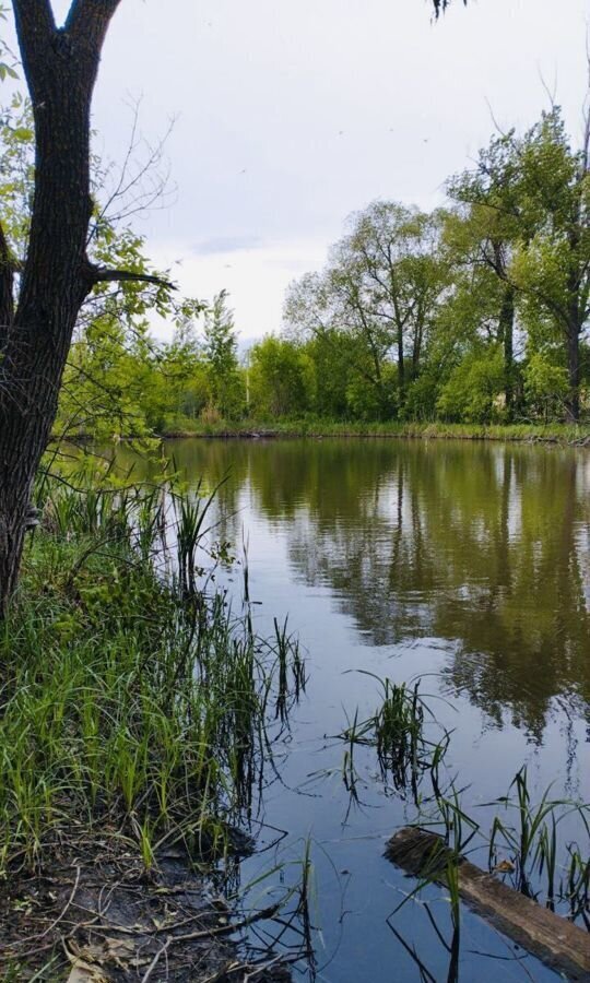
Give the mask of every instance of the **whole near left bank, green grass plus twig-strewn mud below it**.
M 97 881 L 135 902 L 143 884 L 174 935 L 163 864 L 172 851 L 186 880 L 244 849 L 234 829 L 305 682 L 296 644 L 259 638 L 206 580 L 202 499 L 57 485 L 42 506 L 0 626 L 0 973 L 15 980 L 66 979 L 64 954 L 95 945 Z M 216 937 L 219 913 L 201 915 Z

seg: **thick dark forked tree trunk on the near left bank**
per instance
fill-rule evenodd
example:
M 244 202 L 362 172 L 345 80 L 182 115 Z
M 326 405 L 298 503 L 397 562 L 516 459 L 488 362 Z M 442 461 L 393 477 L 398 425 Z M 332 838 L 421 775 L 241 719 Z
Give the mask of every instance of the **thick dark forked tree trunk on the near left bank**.
M 33 482 L 55 421 L 72 332 L 97 280 L 86 259 L 90 108 L 119 2 L 73 0 L 64 26 L 57 28 L 49 0 L 13 0 L 35 119 L 35 194 L 14 312 L 12 284 L 5 276 L 0 283 L 0 613 L 16 584 Z M 2 235 L 5 270 L 3 242 Z

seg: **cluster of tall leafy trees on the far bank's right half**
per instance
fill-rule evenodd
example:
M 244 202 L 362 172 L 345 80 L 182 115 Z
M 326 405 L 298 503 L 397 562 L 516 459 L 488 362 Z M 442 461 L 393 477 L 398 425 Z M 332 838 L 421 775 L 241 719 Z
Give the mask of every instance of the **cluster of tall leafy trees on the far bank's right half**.
M 353 215 L 326 269 L 288 291 L 286 332 L 314 380 L 299 408 L 479 423 L 588 411 L 589 135 L 574 149 L 554 108 L 494 138 L 448 181 L 447 208 Z

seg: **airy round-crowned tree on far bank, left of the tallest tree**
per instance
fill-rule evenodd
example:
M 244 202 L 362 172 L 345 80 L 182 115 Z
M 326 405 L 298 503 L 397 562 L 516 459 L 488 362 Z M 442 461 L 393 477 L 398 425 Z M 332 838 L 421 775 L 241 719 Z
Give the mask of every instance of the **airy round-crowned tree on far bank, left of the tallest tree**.
M 351 365 L 373 415 L 390 417 L 403 405 L 405 388 L 417 377 L 438 305 L 448 287 L 439 251 L 440 216 L 396 202 L 374 202 L 351 218 L 351 233 L 330 252 L 322 274 L 291 285 L 287 329 L 302 337 L 333 343 L 349 335 Z M 397 365 L 393 386 L 390 365 Z M 358 400 L 355 396 L 355 405 Z

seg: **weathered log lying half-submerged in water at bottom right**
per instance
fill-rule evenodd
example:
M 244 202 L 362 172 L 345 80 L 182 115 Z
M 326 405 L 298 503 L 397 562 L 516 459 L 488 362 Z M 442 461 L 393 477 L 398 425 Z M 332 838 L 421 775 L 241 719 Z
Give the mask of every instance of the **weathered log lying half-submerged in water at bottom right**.
M 471 864 L 457 860 L 435 833 L 404 827 L 389 841 L 386 856 L 415 876 L 445 884 L 449 863 L 458 863 L 459 893 L 496 928 L 570 980 L 590 981 L 590 935 Z

